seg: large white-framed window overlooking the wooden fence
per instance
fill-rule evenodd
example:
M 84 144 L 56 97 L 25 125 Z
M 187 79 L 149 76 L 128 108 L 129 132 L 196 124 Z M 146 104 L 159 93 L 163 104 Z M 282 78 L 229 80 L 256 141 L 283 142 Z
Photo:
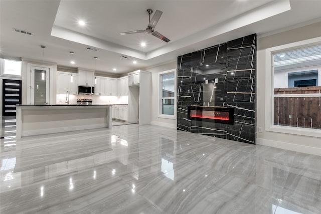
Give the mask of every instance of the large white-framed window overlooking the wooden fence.
M 265 129 L 320 137 L 321 38 L 269 48 L 265 54 Z

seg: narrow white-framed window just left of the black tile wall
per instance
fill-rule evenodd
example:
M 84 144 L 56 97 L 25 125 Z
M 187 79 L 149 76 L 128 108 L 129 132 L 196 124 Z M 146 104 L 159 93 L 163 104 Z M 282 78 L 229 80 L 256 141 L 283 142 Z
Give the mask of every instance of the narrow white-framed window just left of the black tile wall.
M 176 119 L 176 69 L 159 73 L 158 117 Z

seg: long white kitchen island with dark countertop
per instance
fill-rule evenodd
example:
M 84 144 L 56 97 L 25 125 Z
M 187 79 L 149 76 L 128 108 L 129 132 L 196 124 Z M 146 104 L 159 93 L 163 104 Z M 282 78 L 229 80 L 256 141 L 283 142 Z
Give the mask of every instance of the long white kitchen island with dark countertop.
M 111 127 L 111 106 L 17 105 L 17 139 L 24 136 Z

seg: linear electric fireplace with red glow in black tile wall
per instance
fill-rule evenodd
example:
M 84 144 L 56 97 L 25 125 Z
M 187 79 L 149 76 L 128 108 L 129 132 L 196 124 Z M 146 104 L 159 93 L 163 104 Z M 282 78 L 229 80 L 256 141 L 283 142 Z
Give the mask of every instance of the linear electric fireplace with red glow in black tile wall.
M 234 124 L 234 109 L 220 107 L 188 106 L 188 119 Z

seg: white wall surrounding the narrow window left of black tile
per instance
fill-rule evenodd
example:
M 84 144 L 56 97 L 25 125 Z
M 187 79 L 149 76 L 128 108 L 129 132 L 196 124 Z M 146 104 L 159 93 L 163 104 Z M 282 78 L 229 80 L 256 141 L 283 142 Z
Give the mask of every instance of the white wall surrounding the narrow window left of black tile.
M 144 71 L 151 72 L 151 87 L 152 87 L 151 88 L 151 121 L 150 121 L 151 124 L 167 126 L 172 128 L 177 127 L 177 119 L 166 119 L 166 118 L 158 117 L 158 93 L 159 93 L 158 73 L 171 70 L 171 69 L 176 69 L 176 68 L 177 68 L 177 60 L 161 66 L 142 69 Z

